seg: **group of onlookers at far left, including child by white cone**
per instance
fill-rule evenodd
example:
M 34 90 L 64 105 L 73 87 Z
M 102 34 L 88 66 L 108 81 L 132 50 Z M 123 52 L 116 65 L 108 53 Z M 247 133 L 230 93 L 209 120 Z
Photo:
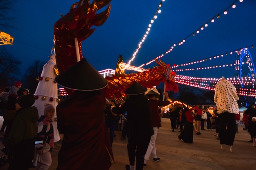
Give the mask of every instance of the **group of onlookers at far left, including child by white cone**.
M 45 115 L 39 117 L 37 107 L 33 106 L 35 97 L 22 83 L 16 81 L 10 88 L 0 93 L 1 142 L 2 152 L 8 158 L 1 159 L 1 166 L 9 163 L 8 169 L 29 169 L 33 166 L 34 155 L 39 157 L 38 169 L 51 166 L 53 149 L 53 127 L 51 125 L 55 108 L 45 106 Z M 43 125 L 41 125 L 43 123 Z

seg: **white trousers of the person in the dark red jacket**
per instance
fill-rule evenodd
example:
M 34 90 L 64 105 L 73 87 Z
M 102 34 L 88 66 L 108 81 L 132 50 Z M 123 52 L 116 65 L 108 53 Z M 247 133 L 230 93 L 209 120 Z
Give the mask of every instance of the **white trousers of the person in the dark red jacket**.
M 150 143 L 149 143 L 147 152 L 144 156 L 144 164 L 146 164 L 147 160 L 149 160 L 151 153 L 154 155 L 154 158 L 157 158 L 156 138 L 157 138 L 158 127 L 153 127 L 153 130 L 154 130 L 154 134 L 150 138 Z

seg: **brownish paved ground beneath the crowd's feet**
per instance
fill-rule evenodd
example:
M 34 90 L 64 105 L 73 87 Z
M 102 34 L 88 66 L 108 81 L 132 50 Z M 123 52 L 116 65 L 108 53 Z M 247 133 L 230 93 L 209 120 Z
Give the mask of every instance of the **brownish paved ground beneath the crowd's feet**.
M 223 145 L 224 150 L 220 150 L 219 140 L 214 136 L 215 130 L 201 131 L 202 135 L 194 135 L 194 142 L 187 144 L 178 140 L 179 130 L 171 131 L 170 120 L 162 119 L 162 127 L 159 129 L 156 140 L 157 155 L 161 160 L 155 163 L 151 157 L 151 160 L 147 162 L 146 169 L 255 169 L 256 147 L 252 147 L 252 143 L 248 142 L 250 136 L 247 131 L 243 131 L 243 127 L 244 125 L 239 125 L 233 152 L 229 152 L 227 145 Z M 115 163 L 110 169 L 125 169 L 125 164 L 129 163 L 126 149 L 127 140 L 121 140 L 121 131 L 115 131 L 115 134 L 112 147 Z M 53 163 L 50 169 L 57 167 L 60 146 L 61 141 L 55 143 L 55 148 L 51 152 Z M 3 145 L 0 145 L 0 148 L 3 148 Z M 3 156 L 2 152 L 0 156 Z M 7 168 L 8 165 L 1 169 Z M 33 169 L 36 168 L 31 168 L 31 170 Z

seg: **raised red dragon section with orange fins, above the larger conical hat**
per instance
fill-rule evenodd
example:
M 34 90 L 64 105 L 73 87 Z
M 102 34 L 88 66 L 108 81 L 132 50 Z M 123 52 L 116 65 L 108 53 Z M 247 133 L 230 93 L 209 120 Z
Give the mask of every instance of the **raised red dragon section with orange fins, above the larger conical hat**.
M 80 0 L 79 3 L 71 6 L 69 13 L 65 16 L 61 15 L 62 17 L 54 24 L 54 47 L 59 73 L 77 62 L 77 54 L 80 59 L 83 58 L 81 41 L 95 31 L 96 28 L 90 29 L 92 26 L 101 26 L 107 20 L 111 8 L 110 1 L 94 0 L 91 4 L 90 0 Z M 108 7 L 104 12 L 96 13 L 106 5 Z M 77 47 L 75 39 L 77 39 Z

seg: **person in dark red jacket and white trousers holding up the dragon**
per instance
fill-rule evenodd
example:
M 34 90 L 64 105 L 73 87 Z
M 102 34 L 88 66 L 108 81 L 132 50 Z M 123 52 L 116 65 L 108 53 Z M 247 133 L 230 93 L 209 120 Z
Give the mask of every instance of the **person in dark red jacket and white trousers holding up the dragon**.
M 171 103 L 167 92 L 165 92 L 165 96 L 167 98 L 167 101 L 157 100 L 157 98 L 160 97 L 160 94 L 158 93 L 156 88 L 153 88 L 153 90 L 145 94 L 145 97 L 148 98 L 150 102 L 150 116 L 151 116 L 151 123 L 154 130 L 154 134 L 150 138 L 150 143 L 149 143 L 147 152 L 144 156 L 144 164 L 143 164 L 144 168 L 146 168 L 146 163 L 149 160 L 151 153 L 154 156 L 153 158 L 154 162 L 158 162 L 160 160 L 160 158 L 157 157 L 157 152 L 156 152 L 157 131 L 159 127 L 161 127 L 161 119 L 160 119 L 161 115 L 159 114 L 158 107 L 166 106 Z

